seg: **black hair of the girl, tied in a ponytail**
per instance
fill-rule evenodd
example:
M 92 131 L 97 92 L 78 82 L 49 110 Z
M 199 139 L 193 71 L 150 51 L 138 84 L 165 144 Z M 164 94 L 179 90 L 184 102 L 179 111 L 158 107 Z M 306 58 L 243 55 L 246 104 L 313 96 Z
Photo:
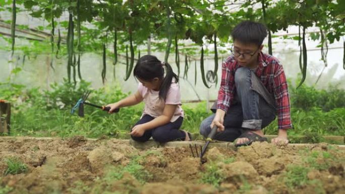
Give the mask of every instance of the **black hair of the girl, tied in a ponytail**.
M 164 77 L 164 67 L 166 75 Z M 163 83 L 159 89 L 159 97 L 165 100 L 166 94 L 170 88 L 172 79 L 175 83 L 179 82 L 179 77 L 172 71 L 169 63 L 162 63 L 156 56 L 144 55 L 139 58 L 134 67 L 133 75 L 144 81 L 152 81 L 154 78 L 163 79 Z

